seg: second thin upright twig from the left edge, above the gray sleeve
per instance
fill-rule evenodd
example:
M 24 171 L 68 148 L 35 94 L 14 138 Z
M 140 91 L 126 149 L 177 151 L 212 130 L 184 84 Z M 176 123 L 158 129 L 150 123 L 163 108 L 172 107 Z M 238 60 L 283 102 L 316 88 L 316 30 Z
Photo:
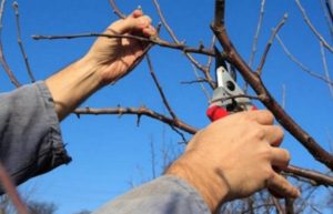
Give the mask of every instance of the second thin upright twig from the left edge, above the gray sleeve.
M 27 72 L 29 74 L 29 78 L 30 78 L 31 82 L 36 82 L 36 79 L 33 77 L 33 73 L 32 73 L 30 64 L 29 64 L 28 54 L 27 54 L 27 52 L 24 50 L 22 38 L 21 38 L 21 24 L 20 24 L 19 4 L 18 4 L 17 1 L 14 1 L 12 3 L 12 6 L 13 6 L 13 9 L 16 11 L 16 21 L 17 21 L 17 31 L 18 31 L 18 43 L 19 43 L 19 47 L 20 47 L 20 51 L 22 53 L 22 57 L 23 57 L 23 60 L 24 60 L 24 64 L 26 64 L 26 68 L 27 68 Z

